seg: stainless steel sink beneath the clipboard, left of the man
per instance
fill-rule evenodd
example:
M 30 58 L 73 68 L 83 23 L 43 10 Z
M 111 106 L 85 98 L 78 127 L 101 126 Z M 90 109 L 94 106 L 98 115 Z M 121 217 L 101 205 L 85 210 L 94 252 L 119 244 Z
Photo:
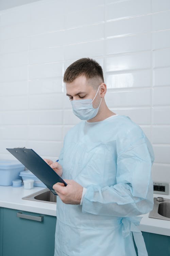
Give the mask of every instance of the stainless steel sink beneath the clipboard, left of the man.
M 56 204 L 57 196 L 54 195 L 50 189 L 45 188 L 29 196 L 22 197 L 22 199 Z

